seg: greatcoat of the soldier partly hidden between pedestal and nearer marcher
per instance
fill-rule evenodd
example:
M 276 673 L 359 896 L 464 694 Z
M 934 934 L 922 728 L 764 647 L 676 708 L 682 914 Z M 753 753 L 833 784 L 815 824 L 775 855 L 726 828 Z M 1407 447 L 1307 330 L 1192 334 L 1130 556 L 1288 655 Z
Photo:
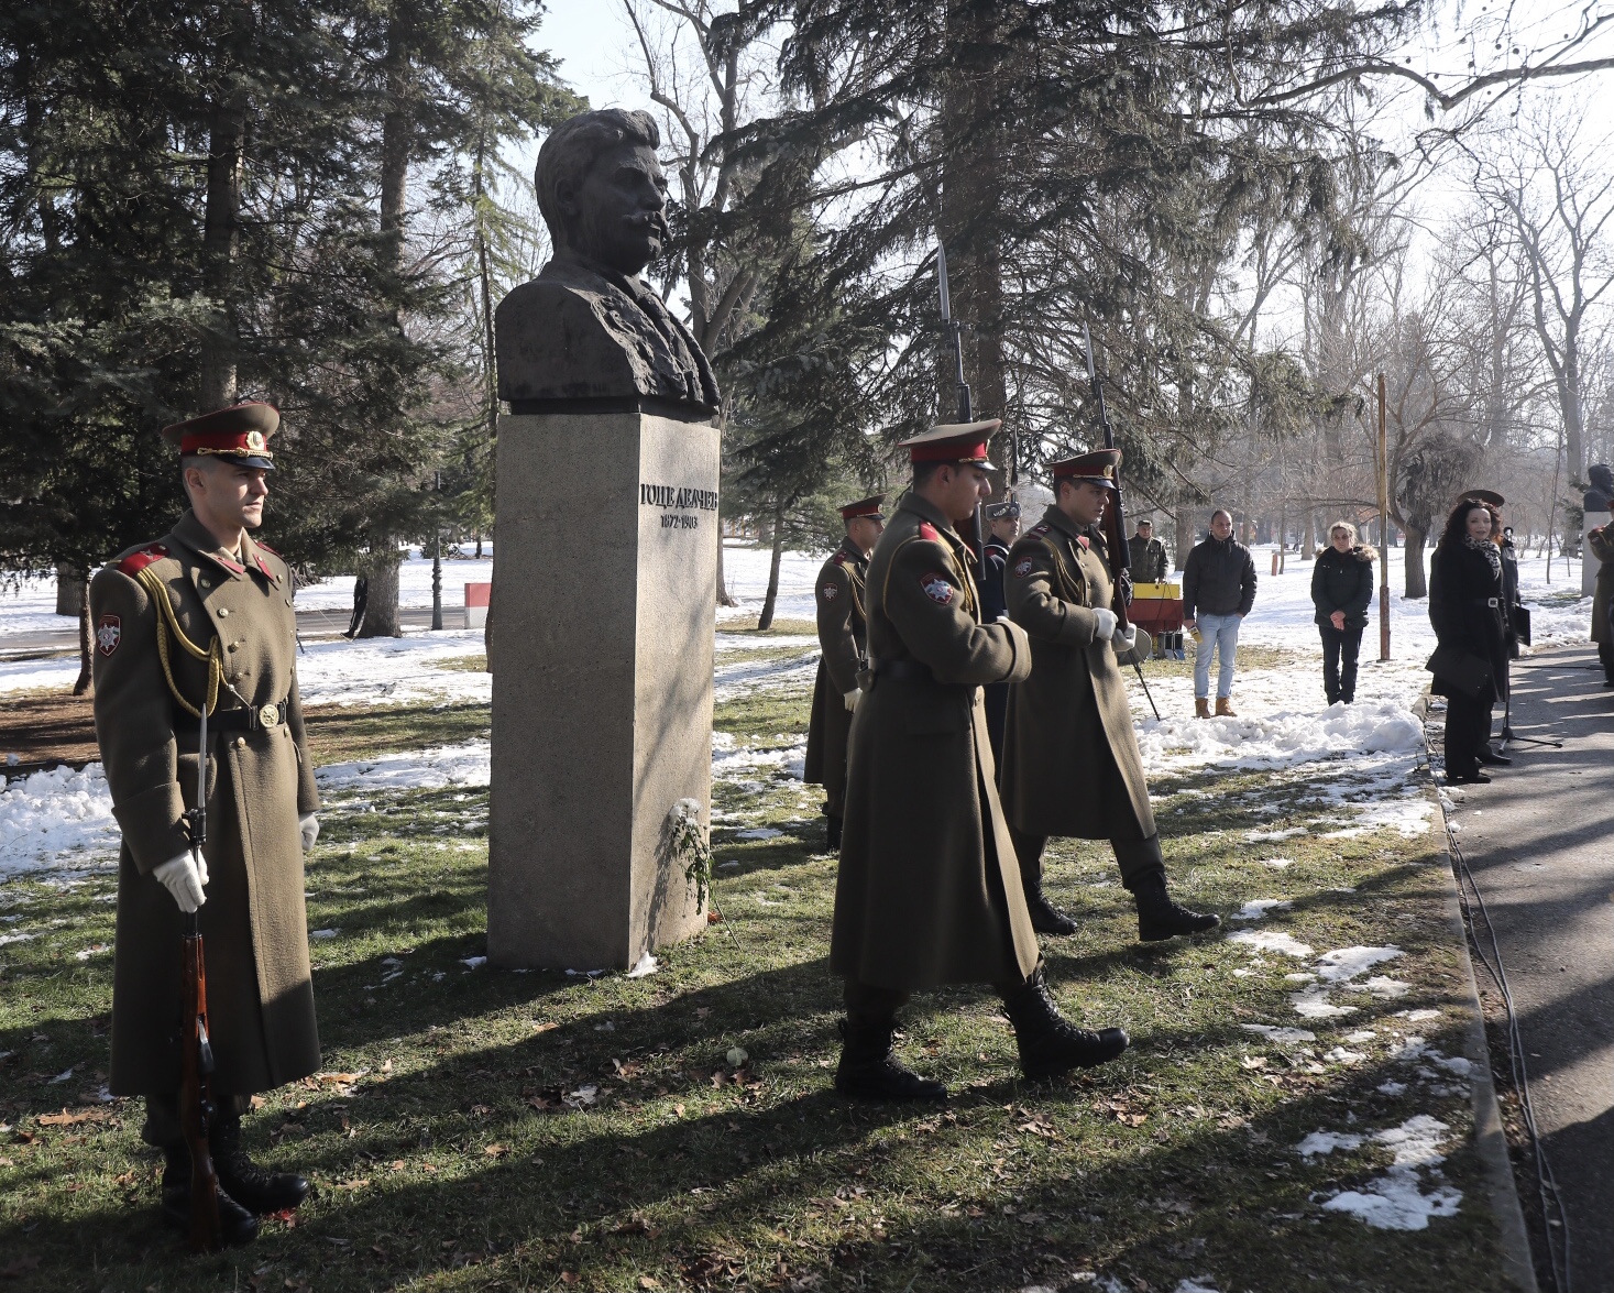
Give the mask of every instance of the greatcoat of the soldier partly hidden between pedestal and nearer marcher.
M 844 539 L 818 571 L 813 600 L 818 604 L 818 676 L 812 684 L 812 718 L 807 725 L 807 762 L 802 780 L 823 786 L 826 807 L 839 817 L 846 806 L 846 739 L 852 713 L 846 693 L 857 686 L 867 655 L 868 623 L 863 615 L 863 578 L 868 557 Z

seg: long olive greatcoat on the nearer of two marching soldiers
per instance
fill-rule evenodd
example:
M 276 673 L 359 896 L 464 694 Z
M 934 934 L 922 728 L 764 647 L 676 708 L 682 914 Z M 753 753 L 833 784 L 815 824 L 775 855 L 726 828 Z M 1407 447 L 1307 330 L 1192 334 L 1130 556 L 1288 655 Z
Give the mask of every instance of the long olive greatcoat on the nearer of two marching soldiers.
M 907 494 L 868 563 L 830 967 L 878 988 L 1018 981 L 1038 962 L 981 705 L 1031 660 L 1020 628 L 981 623 L 972 562 Z

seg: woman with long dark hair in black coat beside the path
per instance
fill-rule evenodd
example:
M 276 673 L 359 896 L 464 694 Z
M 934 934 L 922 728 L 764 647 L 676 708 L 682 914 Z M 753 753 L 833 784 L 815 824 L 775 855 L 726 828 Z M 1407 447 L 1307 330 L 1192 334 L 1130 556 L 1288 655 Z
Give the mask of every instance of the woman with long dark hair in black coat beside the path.
M 1496 508 L 1464 499 L 1446 518 L 1428 578 L 1428 620 L 1440 651 L 1430 659 L 1446 697 L 1446 780 L 1490 781 L 1480 764 L 1512 762 L 1491 751 L 1491 705 L 1507 696 L 1503 565 L 1491 529 Z M 1477 684 L 1477 691 L 1475 691 Z

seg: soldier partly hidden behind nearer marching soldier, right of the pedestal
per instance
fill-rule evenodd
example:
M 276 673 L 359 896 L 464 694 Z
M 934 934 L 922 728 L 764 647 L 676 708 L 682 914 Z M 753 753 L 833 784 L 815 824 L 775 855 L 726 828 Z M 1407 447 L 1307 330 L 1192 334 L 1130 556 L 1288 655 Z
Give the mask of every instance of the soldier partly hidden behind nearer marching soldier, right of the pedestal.
M 863 694 L 857 675 L 868 654 L 868 618 L 863 610 L 863 578 L 868 554 L 884 528 L 880 507 L 884 494 L 862 499 L 841 508 L 846 538 L 834 550 L 818 583 L 818 676 L 812 684 L 812 720 L 807 726 L 807 764 L 802 780 L 823 786 L 823 812 L 828 818 L 830 852 L 841 847 L 841 820 L 846 812 L 846 738 L 852 730 L 852 710 Z

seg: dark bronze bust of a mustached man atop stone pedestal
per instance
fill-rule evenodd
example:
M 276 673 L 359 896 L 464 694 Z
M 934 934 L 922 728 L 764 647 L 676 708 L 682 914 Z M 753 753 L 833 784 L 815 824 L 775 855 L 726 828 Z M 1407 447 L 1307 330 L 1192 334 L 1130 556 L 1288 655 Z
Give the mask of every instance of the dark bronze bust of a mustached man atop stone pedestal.
M 718 405 L 712 365 L 639 271 L 667 237 L 655 119 L 605 108 L 557 126 L 533 182 L 554 258 L 494 312 L 499 397 L 516 413 L 575 400 Z

